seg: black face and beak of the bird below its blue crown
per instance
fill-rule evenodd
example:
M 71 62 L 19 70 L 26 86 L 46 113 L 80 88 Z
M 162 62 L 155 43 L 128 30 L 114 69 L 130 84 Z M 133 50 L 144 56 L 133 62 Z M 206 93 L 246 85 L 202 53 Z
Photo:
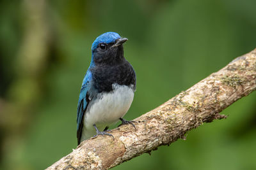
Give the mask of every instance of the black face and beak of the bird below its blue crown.
M 93 61 L 99 65 L 112 65 L 124 60 L 123 43 L 127 38 L 116 39 L 115 43 L 99 43 L 93 50 Z

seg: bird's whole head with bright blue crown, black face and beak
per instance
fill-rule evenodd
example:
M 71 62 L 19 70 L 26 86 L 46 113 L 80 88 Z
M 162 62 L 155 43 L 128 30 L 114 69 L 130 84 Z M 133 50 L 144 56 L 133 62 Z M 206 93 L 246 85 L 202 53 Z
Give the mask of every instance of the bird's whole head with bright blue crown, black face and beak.
M 127 38 L 121 38 L 116 32 L 106 32 L 92 43 L 91 64 L 113 64 L 124 59 L 122 44 Z

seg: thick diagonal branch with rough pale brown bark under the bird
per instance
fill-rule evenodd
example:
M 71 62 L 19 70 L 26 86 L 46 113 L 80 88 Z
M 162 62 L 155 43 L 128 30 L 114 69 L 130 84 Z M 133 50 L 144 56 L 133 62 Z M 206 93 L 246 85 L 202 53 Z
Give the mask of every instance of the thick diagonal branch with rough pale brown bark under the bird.
M 109 169 L 142 153 L 170 145 L 204 122 L 225 118 L 219 113 L 256 90 L 256 49 L 230 62 L 156 109 L 110 133 L 83 141 L 47 169 Z

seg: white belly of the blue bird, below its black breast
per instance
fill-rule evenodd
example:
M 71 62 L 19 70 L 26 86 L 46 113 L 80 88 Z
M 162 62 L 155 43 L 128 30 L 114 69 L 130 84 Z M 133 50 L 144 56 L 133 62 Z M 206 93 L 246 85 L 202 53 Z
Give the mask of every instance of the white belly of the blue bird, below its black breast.
M 113 89 L 112 92 L 102 92 L 99 99 L 89 103 L 84 113 L 81 141 L 96 134 L 93 124 L 96 124 L 99 131 L 103 131 L 106 126 L 124 117 L 129 110 L 134 90 L 126 85 L 113 85 Z

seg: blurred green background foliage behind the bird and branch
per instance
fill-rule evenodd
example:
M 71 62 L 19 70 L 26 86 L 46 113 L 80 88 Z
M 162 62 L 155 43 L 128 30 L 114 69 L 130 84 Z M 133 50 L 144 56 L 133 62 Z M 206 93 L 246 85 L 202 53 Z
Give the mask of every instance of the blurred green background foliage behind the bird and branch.
M 132 120 L 256 47 L 255 0 L 0 2 L 0 169 L 44 169 L 76 148 L 94 39 L 129 38 Z M 151 155 L 114 169 L 256 169 L 256 93 Z

